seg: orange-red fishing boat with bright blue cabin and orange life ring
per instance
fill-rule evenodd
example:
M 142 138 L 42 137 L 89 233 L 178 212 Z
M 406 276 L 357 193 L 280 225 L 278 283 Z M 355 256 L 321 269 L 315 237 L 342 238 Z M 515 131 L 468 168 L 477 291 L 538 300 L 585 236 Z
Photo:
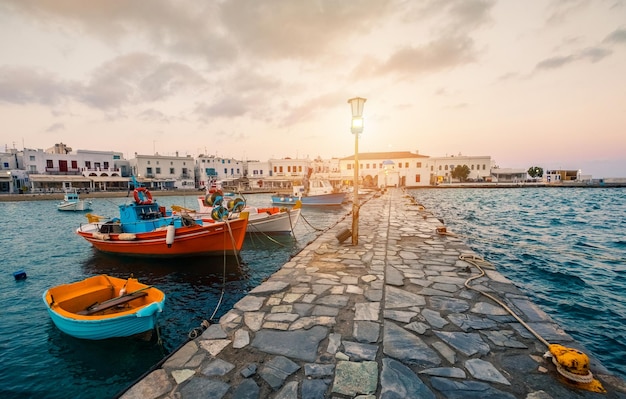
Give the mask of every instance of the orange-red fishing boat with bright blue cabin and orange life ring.
M 139 257 L 237 255 L 248 226 L 248 214 L 218 205 L 214 219 L 173 214 L 159 206 L 145 187 L 135 184 L 134 201 L 119 205 L 119 217 L 90 219 L 76 233 L 101 252 Z

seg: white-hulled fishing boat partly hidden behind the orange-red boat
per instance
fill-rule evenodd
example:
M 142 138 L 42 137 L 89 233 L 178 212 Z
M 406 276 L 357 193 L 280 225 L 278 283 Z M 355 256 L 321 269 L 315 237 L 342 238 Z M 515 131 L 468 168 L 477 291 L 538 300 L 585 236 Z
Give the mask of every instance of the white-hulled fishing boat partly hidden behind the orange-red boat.
M 264 234 L 289 234 L 293 233 L 302 208 L 301 203 L 294 204 L 293 207 L 253 207 L 248 206 L 241 197 L 235 195 L 222 194 L 221 191 L 207 192 L 204 197 L 198 197 L 198 211 L 179 208 L 184 212 L 188 212 L 195 217 L 203 220 L 213 218 L 211 213 L 214 212 L 216 203 L 225 203 L 226 208 L 233 209 L 233 217 L 237 217 L 240 212 L 248 213 L 247 233 L 264 233 Z

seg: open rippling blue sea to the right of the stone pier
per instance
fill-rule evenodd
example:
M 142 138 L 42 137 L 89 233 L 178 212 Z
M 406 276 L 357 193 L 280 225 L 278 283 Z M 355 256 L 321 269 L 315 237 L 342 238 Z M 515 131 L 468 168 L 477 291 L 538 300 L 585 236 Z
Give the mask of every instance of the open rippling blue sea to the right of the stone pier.
M 626 378 L 626 189 L 410 190 Z

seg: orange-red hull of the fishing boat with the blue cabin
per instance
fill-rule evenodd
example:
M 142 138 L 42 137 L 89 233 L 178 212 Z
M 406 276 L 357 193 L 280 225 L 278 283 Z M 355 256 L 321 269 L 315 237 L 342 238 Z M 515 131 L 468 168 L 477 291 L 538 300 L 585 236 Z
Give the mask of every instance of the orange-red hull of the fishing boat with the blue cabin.
M 203 223 L 175 229 L 171 245 L 167 230 L 147 233 L 99 233 L 99 223 L 80 226 L 76 233 L 101 252 L 136 257 L 181 257 L 237 254 L 245 239 L 245 218 L 228 222 Z

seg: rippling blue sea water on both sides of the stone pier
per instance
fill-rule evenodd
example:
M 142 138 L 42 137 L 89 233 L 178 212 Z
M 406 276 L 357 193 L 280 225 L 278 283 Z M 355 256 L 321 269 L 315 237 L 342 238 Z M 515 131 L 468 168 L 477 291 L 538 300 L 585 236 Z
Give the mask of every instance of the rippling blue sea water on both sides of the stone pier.
M 520 287 L 612 372 L 626 378 L 626 190 L 577 188 L 409 190 L 448 229 Z M 158 195 L 155 195 L 158 197 Z M 157 198 L 195 208 L 195 197 Z M 92 213 L 116 216 L 127 199 L 95 199 Z M 248 196 L 269 206 L 270 196 Z M 110 398 L 185 342 L 211 316 L 278 270 L 349 207 L 304 208 L 295 238 L 246 238 L 233 257 L 139 260 L 94 251 L 74 231 L 85 213 L 55 201 L 0 202 L 0 397 Z M 363 232 L 362 232 L 363 234 Z M 15 281 L 23 269 L 27 278 Z M 85 341 L 51 322 L 42 293 L 106 273 L 162 289 L 162 345 Z M 218 306 L 219 305 L 219 306 Z

